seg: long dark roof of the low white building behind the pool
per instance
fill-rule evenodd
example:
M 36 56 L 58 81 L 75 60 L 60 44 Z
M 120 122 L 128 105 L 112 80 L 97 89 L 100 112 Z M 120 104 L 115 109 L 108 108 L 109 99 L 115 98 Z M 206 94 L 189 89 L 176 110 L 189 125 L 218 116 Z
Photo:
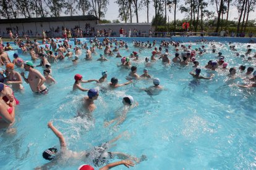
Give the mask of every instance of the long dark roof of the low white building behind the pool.
M 41 18 L 17 18 L 17 19 L 0 19 L 0 23 L 29 23 L 29 22 L 64 22 L 64 21 L 84 21 L 98 20 L 94 15 L 79 15 L 65 17 L 41 17 Z

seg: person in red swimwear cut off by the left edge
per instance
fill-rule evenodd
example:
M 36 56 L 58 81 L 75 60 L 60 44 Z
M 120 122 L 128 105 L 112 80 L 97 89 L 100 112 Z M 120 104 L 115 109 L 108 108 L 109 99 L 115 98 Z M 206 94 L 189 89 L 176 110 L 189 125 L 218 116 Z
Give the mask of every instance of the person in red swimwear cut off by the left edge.
M 0 129 L 12 126 L 15 121 L 15 107 L 4 102 L 6 86 L 0 83 Z

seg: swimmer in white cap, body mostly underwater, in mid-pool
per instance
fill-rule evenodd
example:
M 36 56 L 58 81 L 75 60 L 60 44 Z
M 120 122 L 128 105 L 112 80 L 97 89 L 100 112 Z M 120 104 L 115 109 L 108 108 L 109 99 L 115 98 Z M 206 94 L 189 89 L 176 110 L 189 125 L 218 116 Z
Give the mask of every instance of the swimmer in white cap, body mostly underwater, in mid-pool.
M 114 124 L 114 127 L 118 126 L 119 124 L 122 124 L 124 122 L 124 120 L 126 119 L 128 111 L 139 105 L 137 102 L 134 102 L 134 98 L 131 95 L 127 95 L 126 97 L 124 97 L 122 99 L 122 103 L 124 104 L 122 113 L 117 118 L 114 118 L 111 121 L 106 121 L 104 123 L 105 127 L 109 126 L 110 124 L 113 124 L 114 122 L 116 122 Z M 121 111 L 121 109 L 119 109 L 119 111 Z

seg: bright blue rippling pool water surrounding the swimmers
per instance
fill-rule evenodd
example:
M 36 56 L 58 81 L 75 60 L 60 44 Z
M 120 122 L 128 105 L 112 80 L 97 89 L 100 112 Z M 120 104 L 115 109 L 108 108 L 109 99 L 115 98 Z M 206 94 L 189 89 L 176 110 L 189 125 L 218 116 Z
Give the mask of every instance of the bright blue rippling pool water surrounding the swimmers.
M 139 51 L 132 47 L 132 39 L 127 41 L 130 51 L 121 50 L 122 56 Z M 256 68 L 255 59 L 248 62 L 229 51 L 225 42 L 215 43 L 217 53 L 223 52 L 228 67 L 238 68 L 244 64 Z M 191 42 L 182 44 L 192 44 L 193 49 L 205 45 Z M 233 44 L 238 52 L 245 53 L 246 43 Z M 208 49 L 208 44 L 205 46 Z M 251 46 L 254 54 L 256 44 Z M 132 65 L 137 65 L 139 75 L 142 75 L 145 57 L 151 56 L 151 51 L 153 49 L 143 50 L 139 54 L 140 61 L 132 62 Z M 173 59 L 174 47 L 169 47 L 169 52 Z M 41 156 L 42 152 L 53 146 L 59 148 L 59 140 L 47 127 L 50 120 L 66 138 L 68 148 L 75 151 L 88 150 L 125 132 L 124 137 L 117 140 L 116 146 L 110 151 L 137 157 L 147 155 L 147 161 L 132 169 L 255 169 L 256 91 L 230 86 L 247 83 L 245 79 L 231 79 L 227 76 L 228 71 L 202 70 L 202 75 L 213 73 L 215 77 L 195 81 L 189 75 L 193 71 L 191 63 L 188 67 L 174 64 L 166 67 L 158 61 L 148 70 L 154 78 L 160 78 L 164 86 L 160 95 L 150 97 L 140 91 L 143 87 L 151 86 L 151 80 L 134 81 L 114 91 L 100 91 L 95 102 L 97 108 L 93 112 L 93 121 L 74 118 L 82 97 L 87 95 L 87 92 L 71 92 L 75 74 L 80 73 L 83 79 L 99 79 L 101 71 L 107 70 L 108 81 L 114 76 L 119 79 L 119 83 L 127 81 L 125 77 L 130 70 L 116 66 L 121 59 L 107 57 L 108 62 L 97 62 L 103 50 L 97 49 L 97 53 L 90 62 L 82 60 L 85 56 L 83 52 L 77 65 L 67 59 L 53 64 L 53 77 L 58 84 L 49 86 L 48 95 L 34 95 L 28 84 L 23 83 L 25 91 L 15 93 L 20 100 L 13 126 L 17 132 L 11 136 L 0 133 L 0 169 L 33 169 L 48 163 Z M 197 56 L 200 67 L 203 68 L 208 60 L 216 60 L 216 55 L 209 49 L 203 56 Z M 30 57 L 23 55 L 22 59 L 29 60 Z M 43 72 L 42 68 L 38 70 Z M 243 74 L 238 73 L 239 76 Z M 96 83 L 82 86 L 101 89 Z M 139 106 L 129 111 L 121 126 L 104 127 L 105 121 L 118 114 L 124 95 L 132 95 Z M 111 162 L 117 160 L 114 158 Z M 53 169 L 77 169 L 84 163 L 92 164 L 83 160 L 67 161 L 56 164 Z

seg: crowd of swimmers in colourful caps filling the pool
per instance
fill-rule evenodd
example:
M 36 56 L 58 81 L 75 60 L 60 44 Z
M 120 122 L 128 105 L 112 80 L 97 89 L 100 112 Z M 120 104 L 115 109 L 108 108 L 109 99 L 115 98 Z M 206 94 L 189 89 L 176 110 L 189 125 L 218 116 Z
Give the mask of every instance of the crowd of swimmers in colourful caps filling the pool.
M 121 29 L 120 34 L 123 33 Z M 63 32 L 67 34 L 67 32 Z M 217 51 L 216 49 L 220 49 L 216 47 L 215 43 L 211 42 L 203 42 L 208 44 L 208 48 L 202 45 L 198 48 L 193 48 L 191 45 L 184 45 L 180 42 L 174 42 L 173 40 L 169 41 L 135 41 L 133 42 L 133 46 L 137 51 L 130 51 L 129 46 L 126 41 L 117 40 L 115 38 L 103 38 L 100 41 L 97 38 L 92 38 L 90 41 L 81 42 L 80 39 L 74 39 L 75 47 L 72 47 L 69 44 L 69 36 L 64 39 L 64 41 L 59 41 L 58 39 L 43 39 L 43 44 L 45 47 L 41 46 L 37 42 L 36 39 L 31 41 L 29 37 L 23 42 L 21 39 L 17 38 L 17 46 L 23 52 L 23 55 L 30 55 L 31 61 L 24 61 L 19 54 L 14 53 L 13 60 L 9 58 L 8 54 L 5 52 L 6 47 L 3 47 L 2 41 L 0 44 L 0 62 L 1 62 L 1 70 L 0 70 L 0 128 L 6 129 L 9 131 L 12 129 L 12 125 L 15 122 L 15 107 L 19 105 L 19 100 L 15 99 L 14 92 L 22 91 L 24 87 L 22 86 L 23 81 L 30 85 L 30 89 L 34 94 L 38 95 L 46 95 L 48 92 L 51 92 L 49 88 L 49 84 L 55 84 L 56 80 L 53 78 L 53 73 L 51 71 L 51 67 L 56 67 L 59 62 L 72 62 L 74 65 L 81 60 L 94 60 L 93 55 L 99 55 L 99 59 L 96 61 L 107 62 L 110 57 L 116 57 L 121 59 L 121 62 L 117 67 L 121 69 L 130 70 L 127 73 L 127 82 L 120 84 L 118 78 L 112 77 L 110 82 L 108 83 L 108 71 L 102 71 L 102 76 L 100 79 L 83 79 L 83 76 L 80 74 L 74 75 L 74 85 L 72 91 L 83 91 L 87 92 L 87 96 L 85 96 L 82 100 L 83 103 L 83 111 L 78 111 L 77 116 L 85 119 L 93 118 L 93 111 L 96 109 L 95 100 L 98 99 L 99 91 L 95 88 L 87 89 L 83 87 L 83 83 L 91 83 L 96 82 L 98 84 L 105 84 L 105 86 L 101 86 L 103 89 L 116 89 L 121 86 L 127 86 L 130 83 L 134 83 L 135 81 L 140 81 L 140 79 L 151 79 L 151 86 L 141 89 L 142 91 L 147 92 L 148 95 L 160 95 L 163 91 L 164 87 L 160 85 L 160 79 L 152 78 L 149 74 L 149 69 L 154 63 L 161 62 L 164 66 L 168 66 L 171 63 L 175 65 L 181 65 L 184 67 L 191 67 L 194 71 L 191 71 L 189 74 L 194 79 L 212 79 L 215 75 L 210 75 L 208 77 L 200 75 L 202 69 L 213 70 L 213 71 L 226 71 L 228 73 L 229 78 L 235 78 L 237 70 L 241 72 L 241 76 L 244 79 L 247 79 L 249 84 L 236 84 L 239 87 L 256 87 L 256 71 L 254 71 L 253 67 L 246 67 L 244 65 L 240 65 L 236 67 L 228 68 L 228 60 L 226 60 L 225 56 L 221 51 Z M 60 42 L 60 43 L 57 43 Z M 85 53 L 83 53 L 85 51 Z M 129 56 L 122 56 L 122 53 L 129 52 Z M 145 59 L 141 59 L 140 56 L 142 51 L 151 51 L 151 55 L 145 57 Z M 242 57 L 245 60 L 255 60 L 256 54 L 252 54 L 252 49 L 250 45 L 247 46 L 244 54 L 239 54 L 236 52 L 236 46 L 234 46 L 231 42 L 229 42 L 229 51 L 235 52 L 236 56 Z M 203 55 L 207 53 L 215 54 L 215 59 L 209 60 L 205 67 L 200 67 L 200 63 L 197 59 L 203 57 Z M 172 57 L 172 59 L 170 59 Z M 39 60 L 40 64 L 35 65 L 35 62 Z M 145 60 L 143 63 L 145 65 L 145 69 L 143 69 L 143 74 L 139 75 L 137 73 L 137 67 L 134 63 L 138 63 L 139 60 Z M 43 67 L 43 74 L 36 69 L 36 67 Z M 28 72 L 28 76 L 25 76 L 23 71 L 20 69 L 24 69 Z M 246 70 L 246 71 L 245 71 Z M 124 110 L 120 116 L 117 116 L 114 119 L 105 122 L 105 127 L 107 126 L 120 126 L 124 121 L 126 121 L 127 113 L 130 109 L 134 107 L 139 107 L 138 103 L 135 102 L 134 98 L 131 95 L 126 95 L 122 99 L 122 103 L 124 104 Z M 43 169 L 48 166 L 53 166 L 56 164 L 57 160 L 61 160 L 65 158 L 74 158 L 74 159 L 87 159 L 89 157 L 92 158 L 94 166 L 103 166 L 107 164 L 108 159 L 116 156 L 117 158 L 123 159 L 123 161 L 119 161 L 118 163 L 108 164 L 103 167 L 103 169 L 108 169 L 113 166 L 124 164 L 125 166 L 134 166 L 135 163 L 140 163 L 141 161 L 147 160 L 147 156 L 142 155 L 140 158 L 135 158 L 134 156 L 127 155 L 126 153 L 121 152 L 109 152 L 109 145 L 116 142 L 117 139 L 122 137 L 122 135 L 117 136 L 115 139 L 102 144 L 99 147 L 95 147 L 94 150 L 86 151 L 86 152 L 73 152 L 67 149 L 67 145 L 64 137 L 61 132 L 59 132 L 56 127 L 54 127 L 53 123 L 50 121 L 48 123 L 49 129 L 53 131 L 53 133 L 58 137 L 61 150 L 58 151 L 56 147 L 48 148 L 43 152 L 43 158 L 49 160 L 48 164 L 45 164 L 38 169 Z M 128 159 L 128 160 L 126 160 Z M 81 167 L 82 168 L 82 167 Z

